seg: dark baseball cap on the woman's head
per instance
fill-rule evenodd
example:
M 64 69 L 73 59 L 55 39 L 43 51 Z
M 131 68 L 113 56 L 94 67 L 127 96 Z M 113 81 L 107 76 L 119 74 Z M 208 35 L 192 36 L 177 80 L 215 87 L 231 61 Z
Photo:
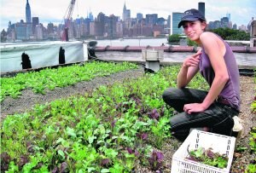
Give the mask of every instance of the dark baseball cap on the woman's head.
M 183 13 L 182 19 L 180 20 L 180 22 L 178 23 L 178 28 L 180 26 L 183 26 L 185 21 L 195 21 L 195 20 L 204 20 L 206 21 L 206 18 L 203 14 L 201 14 L 201 12 L 197 9 L 189 9 L 186 10 Z

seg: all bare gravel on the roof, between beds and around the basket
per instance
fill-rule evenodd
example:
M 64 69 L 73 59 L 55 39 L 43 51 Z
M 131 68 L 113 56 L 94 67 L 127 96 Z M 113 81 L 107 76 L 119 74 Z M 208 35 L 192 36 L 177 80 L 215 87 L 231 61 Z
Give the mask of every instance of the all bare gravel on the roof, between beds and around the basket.
M 100 85 L 111 85 L 117 81 L 123 81 L 125 78 L 139 78 L 143 76 L 143 67 L 137 70 L 130 70 L 126 72 L 119 72 L 108 77 L 95 78 L 89 82 L 81 82 L 66 88 L 56 88 L 53 91 L 47 91 L 45 95 L 37 95 L 31 89 L 22 91 L 22 95 L 18 99 L 6 98 L 1 103 L 1 121 L 6 116 L 11 116 L 14 113 L 22 113 L 32 109 L 36 104 L 44 104 L 46 102 L 54 101 L 56 99 L 69 97 L 71 95 L 83 95 L 85 92 L 95 89 Z M 236 147 L 249 148 L 249 132 L 252 127 L 256 126 L 256 117 L 252 113 L 250 106 L 253 97 L 256 93 L 253 77 L 241 76 L 241 112 L 239 117 L 243 120 L 243 132 L 241 138 L 236 140 Z M 176 152 L 177 148 L 181 145 L 180 141 L 174 138 L 166 140 L 161 152 L 165 156 L 165 165 L 162 167 L 161 172 L 171 172 L 172 155 Z M 235 151 L 233 162 L 231 166 L 231 173 L 242 173 L 250 161 L 256 159 L 255 153 L 250 153 L 247 149 L 242 153 Z M 255 164 L 255 163 L 254 163 Z M 135 172 L 154 172 L 148 168 L 142 167 L 139 163 L 136 165 Z

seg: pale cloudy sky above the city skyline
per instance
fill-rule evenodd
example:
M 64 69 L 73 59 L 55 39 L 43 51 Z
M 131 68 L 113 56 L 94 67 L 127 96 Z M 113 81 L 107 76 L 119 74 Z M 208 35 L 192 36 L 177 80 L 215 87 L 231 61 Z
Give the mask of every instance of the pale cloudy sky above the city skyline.
M 26 20 L 26 0 L 0 0 L 0 30 L 6 30 L 9 20 L 12 23 Z M 39 17 L 39 22 L 61 23 L 71 0 L 29 0 L 32 17 Z M 186 9 L 197 9 L 198 3 L 206 3 L 207 21 L 220 20 L 231 14 L 231 21 L 238 26 L 245 25 L 256 19 L 256 0 L 76 0 L 73 18 L 86 17 L 91 11 L 94 17 L 103 14 L 122 16 L 124 3 L 126 9 L 131 9 L 131 17 L 138 12 L 146 14 L 159 14 L 167 19 L 172 12 L 183 12 Z

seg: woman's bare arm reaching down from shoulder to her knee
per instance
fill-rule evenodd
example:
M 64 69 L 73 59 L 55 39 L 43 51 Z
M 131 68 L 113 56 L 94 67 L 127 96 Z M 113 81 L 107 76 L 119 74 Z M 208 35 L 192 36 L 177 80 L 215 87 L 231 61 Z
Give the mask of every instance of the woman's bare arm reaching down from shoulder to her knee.
M 224 85 L 229 80 L 227 66 L 224 62 L 224 54 L 226 49 L 223 41 L 211 32 L 202 33 L 200 39 L 201 44 L 211 61 L 213 71 L 215 72 L 215 77 L 212 81 L 212 86 L 202 103 L 194 103 L 184 106 L 184 111 L 188 113 L 202 112 L 210 107 L 212 102 L 215 101 L 219 93 L 222 91 L 222 89 L 224 89 Z

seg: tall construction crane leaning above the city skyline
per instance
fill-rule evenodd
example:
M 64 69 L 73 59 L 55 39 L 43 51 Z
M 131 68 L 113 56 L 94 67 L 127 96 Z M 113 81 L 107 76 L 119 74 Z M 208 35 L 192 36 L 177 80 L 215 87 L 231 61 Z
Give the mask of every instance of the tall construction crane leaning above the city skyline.
M 64 31 L 61 34 L 61 40 L 64 42 L 68 42 L 68 29 L 69 29 L 70 21 L 72 18 L 73 8 L 75 3 L 76 3 L 76 0 L 71 0 L 71 3 L 67 8 L 66 14 L 64 15 L 65 25 L 64 25 Z

